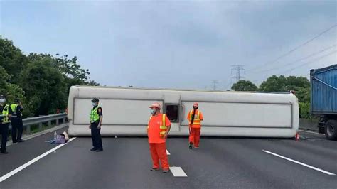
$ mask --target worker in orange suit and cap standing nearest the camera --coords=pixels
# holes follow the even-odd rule
[[[161,114],[161,105],[154,103],[150,106],[152,116],[147,126],[147,135],[149,137],[149,146],[153,166],[151,171],[159,171],[159,160],[163,173],[169,172],[169,160],[166,154],[166,138],[171,129],[171,121],[166,114]]]

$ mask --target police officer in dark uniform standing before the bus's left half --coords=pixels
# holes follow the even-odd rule
[[[90,151],[103,151],[101,137],[101,126],[103,119],[102,108],[98,106],[99,99],[94,98],[91,102],[93,108],[90,112],[89,129],[91,129],[92,146],[94,146],[94,148],[90,149]]]

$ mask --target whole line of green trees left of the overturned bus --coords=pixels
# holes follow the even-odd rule
[[[23,117],[64,112],[72,85],[99,85],[88,75],[76,56],[24,55],[13,41],[0,36],[0,94],[6,95],[7,103],[21,99]]]

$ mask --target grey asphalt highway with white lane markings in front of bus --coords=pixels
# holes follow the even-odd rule
[[[0,188],[336,188],[337,141],[301,131],[301,140],[169,138],[171,172],[149,171],[146,138],[90,138],[58,146],[45,134],[0,155]],[[57,148],[54,150],[54,148]],[[26,163],[26,165],[25,165]],[[28,163],[28,164],[27,164]],[[177,174],[186,176],[175,176]]]

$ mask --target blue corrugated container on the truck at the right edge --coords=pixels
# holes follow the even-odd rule
[[[311,114],[337,114],[337,65],[310,71]]]

